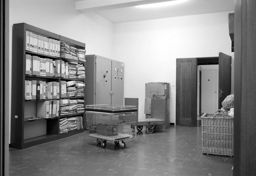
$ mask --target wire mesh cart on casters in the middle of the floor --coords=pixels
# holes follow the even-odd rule
[[[124,140],[133,138],[136,106],[86,105],[84,110],[89,136],[97,138],[101,147],[106,147],[109,140],[120,148],[125,148]]]

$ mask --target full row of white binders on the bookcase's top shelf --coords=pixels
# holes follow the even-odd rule
[[[60,41],[26,31],[26,50],[60,57]]]

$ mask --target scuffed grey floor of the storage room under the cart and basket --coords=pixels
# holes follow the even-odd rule
[[[202,154],[201,127],[170,126],[148,134],[145,126],[121,149],[106,148],[88,132],[17,150],[10,176],[232,176],[233,157]]]

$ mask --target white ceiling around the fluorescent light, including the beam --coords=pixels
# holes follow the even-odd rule
[[[76,10],[92,12],[112,23],[143,21],[186,15],[234,11],[234,0],[73,0]],[[172,1],[163,7],[139,8],[138,5]]]

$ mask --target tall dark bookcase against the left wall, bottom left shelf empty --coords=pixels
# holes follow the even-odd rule
[[[49,76],[48,74],[47,76],[42,76],[42,74],[41,76],[25,74],[26,73],[26,54],[31,56],[38,56],[40,58],[46,58],[47,60],[50,60],[50,61],[52,60],[58,60],[58,62],[62,61],[60,56],[50,56],[43,53],[37,53],[37,52],[25,50],[27,49],[26,31],[32,32],[33,34],[37,34],[43,37],[52,38],[54,40],[66,41],[66,42],[72,43],[72,46],[75,46],[76,48],[85,50],[85,44],[79,41],[75,41],[73,39],[66,38],[63,36],[60,38],[60,35],[58,34],[40,29],[35,26],[28,25],[26,23],[13,24],[12,69],[11,69],[12,70],[12,79],[11,79],[12,89],[11,89],[10,109],[11,109],[11,117],[17,116],[19,118],[11,118],[10,147],[17,148],[17,149],[24,149],[24,148],[36,146],[38,144],[43,144],[46,142],[58,140],[60,139],[59,138],[60,137],[59,135],[60,118],[75,117],[78,115],[84,117],[84,113],[77,113],[77,114],[65,115],[62,117],[58,116],[54,118],[36,118],[38,108],[39,108],[39,111],[42,110],[42,112],[44,112],[44,107],[48,105],[46,101],[51,102],[54,100],[55,101],[61,100],[61,98],[60,97],[56,98],[56,96],[54,96],[53,99],[42,99],[41,97],[41,99],[25,100],[24,98],[24,94],[26,93],[25,92],[26,88],[24,88],[25,81],[35,80],[35,81],[57,82],[58,84],[60,84],[60,80],[66,80],[66,81],[75,80],[75,81],[81,81],[81,83],[84,83],[85,79],[61,78],[60,76],[54,77],[52,75]],[[63,60],[68,62],[67,59],[63,59]],[[73,62],[74,60],[70,60],[70,61]],[[81,61],[74,61],[74,62],[82,63],[84,65],[84,62],[81,62]],[[61,66],[60,66],[60,71],[63,71]],[[58,88],[60,88],[60,93],[61,93],[61,84],[58,86]],[[84,100],[84,97],[72,97],[69,99]],[[40,103],[43,104],[44,107],[40,106]],[[49,106],[50,106],[50,103],[48,107]],[[58,115],[60,115],[60,113]],[[33,117],[35,119],[33,119]],[[29,121],[28,119],[31,119],[31,120]],[[69,132],[68,134],[61,135],[61,138],[72,136],[76,133],[81,133],[81,132],[83,132],[83,129],[78,131],[72,131],[72,132]],[[29,139],[26,139],[26,138],[29,138]]]

